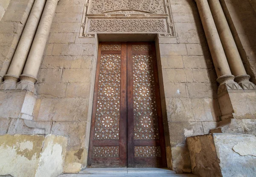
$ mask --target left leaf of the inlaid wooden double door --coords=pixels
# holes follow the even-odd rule
[[[99,44],[88,167],[127,166],[127,45]]]

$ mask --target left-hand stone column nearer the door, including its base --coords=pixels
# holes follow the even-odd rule
[[[29,51],[29,56],[26,60],[26,65],[22,75],[20,75],[20,82],[17,83],[16,89],[24,89],[35,92],[34,84],[37,81],[38,70],[41,65],[41,60],[44,54],[44,49],[47,43],[57,4],[58,0],[47,0],[45,4],[34,41]]]

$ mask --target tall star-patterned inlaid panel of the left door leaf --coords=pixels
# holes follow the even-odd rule
[[[94,139],[119,139],[121,55],[101,55]]]

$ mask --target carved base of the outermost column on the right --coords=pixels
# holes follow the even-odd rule
[[[256,91],[256,85],[249,81],[250,76],[245,75],[239,75],[235,77],[235,81],[244,89],[244,91]]]

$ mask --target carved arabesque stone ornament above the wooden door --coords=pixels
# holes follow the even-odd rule
[[[169,0],[85,0],[79,37],[110,33],[175,37]]]

